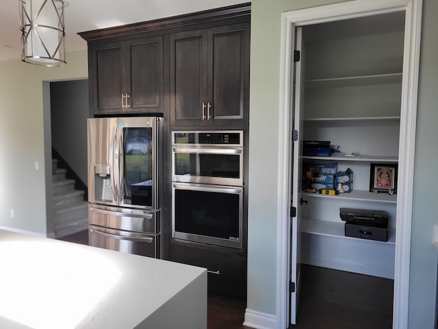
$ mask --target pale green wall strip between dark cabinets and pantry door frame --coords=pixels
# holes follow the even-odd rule
[[[342,1],[251,2],[248,303],[276,314],[281,13]]]

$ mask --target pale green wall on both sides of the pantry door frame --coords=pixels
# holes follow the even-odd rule
[[[342,1],[252,1],[247,307],[261,313],[276,314],[281,13],[335,2]],[[433,190],[438,186],[433,175],[438,149],[430,141],[438,141],[437,15],[437,1],[424,0],[409,328],[434,328],[436,313],[437,250],[432,229],[438,223]]]

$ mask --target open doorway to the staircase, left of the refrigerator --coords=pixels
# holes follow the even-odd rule
[[[44,92],[48,94],[44,97],[44,145],[46,161],[52,163],[47,173],[51,187],[47,223],[48,232],[60,239],[88,226],[88,80],[44,82]]]

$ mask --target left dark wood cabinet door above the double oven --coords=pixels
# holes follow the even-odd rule
[[[171,125],[207,124],[207,30],[170,35]]]

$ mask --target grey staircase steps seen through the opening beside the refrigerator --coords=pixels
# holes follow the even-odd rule
[[[88,202],[84,191],[75,190],[75,180],[66,179],[66,169],[52,159],[53,232],[55,239],[88,229]]]

